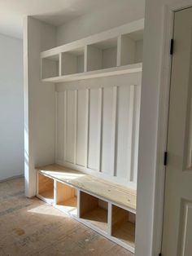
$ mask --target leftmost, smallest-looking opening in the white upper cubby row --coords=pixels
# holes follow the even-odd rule
[[[42,79],[59,77],[59,54],[41,59]]]

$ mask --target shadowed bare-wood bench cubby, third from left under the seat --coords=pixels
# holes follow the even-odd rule
[[[81,192],[80,195],[80,218],[98,227],[103,232],[107,232],[107,201],[98,199],[98,197],[91,196],[85,192]]]

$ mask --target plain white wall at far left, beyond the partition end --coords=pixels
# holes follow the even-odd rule
[[[23,42],[0,34],[0,180],[24,174]]]

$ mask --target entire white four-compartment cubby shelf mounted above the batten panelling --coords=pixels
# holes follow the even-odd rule
[[[41,52],[41,81],[66,82],[142,72],[144,20]]]

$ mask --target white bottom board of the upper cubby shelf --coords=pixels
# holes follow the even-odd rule
[[[142,63],[138,64],[130,64],[115,68],[105,68],[95,71],[89,71],[84,73],[75,73],[60,77],[50,77],[44,78],[42,82],[70,82],[70,81],[77,81],[77,80],[84,80],[89,78],[97,78],[97,77],[110,77],[116,75],[122,75],[126,73],[138,73],[142,72]]]

